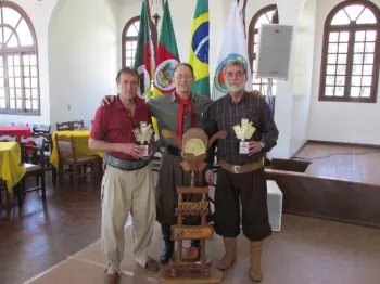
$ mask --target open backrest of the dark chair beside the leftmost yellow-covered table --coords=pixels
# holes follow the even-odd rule
[[[35,137],[22,137],[21,144],[21,155],[23,163],[30,163],[35,165],[43,165],[43,139]]]

